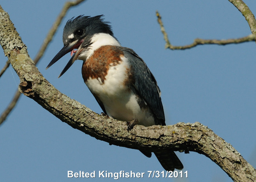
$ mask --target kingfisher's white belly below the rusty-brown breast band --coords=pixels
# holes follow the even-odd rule
[[[89,78],[86,85],[103,103],[109,117],[122,121],[137,119],[140,125],[155,125],[154,117],[148,109],[140,109],[137,96],[124,81],[127,78],[129,64],[125,61],[111,66],[104,84],[100,79]]]

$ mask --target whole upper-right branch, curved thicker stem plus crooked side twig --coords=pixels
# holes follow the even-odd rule
[[[197,45],[202,45],[202,44],[218,44],[218,45],[227,45],[227,44],[238,44],[238,43],[243,43],[243,42],[250,42],[250,41],[256,41],[256,20],[255,17],[252,13],[252,11],[249,9],[249,7],[242,1],[242,0],[228,0],[236,8],[243,14],[245,19],[247,20],[252,34],[248,35],[246,37],[242,37],[239,39],[227,39],[227,40],[205,40],[205,39],[195,39],[193,43],[185,46],[173,46],[171,42],[168,39],[168,35],[165,32],[164,29],[164,24],[162,22],[162,18],[159,14],[158,11],[156,11],[156,17],[157,17],[157,22],[160,25],[161,32],[164,35],[164,40],[165,40],[165,48],[169,48],[171,50],[184,50],[184,49],[190,49],[192,47],[196,47]]]

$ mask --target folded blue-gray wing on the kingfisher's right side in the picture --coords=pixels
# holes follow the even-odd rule
[[[155,114],[158,121],[156,124],[165,125],[164,109],[160,97],[161,91],[157,86],[155,77],[148,69],[146,63],[132,49],[123,47],[122,51],[132,65],[134,89]]]

